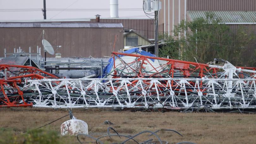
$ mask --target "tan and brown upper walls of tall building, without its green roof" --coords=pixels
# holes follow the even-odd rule
[[[173,21],[173,1],[174,1],[174,25],[179,23],[179,0],[160,0],[162,9],[159,13],[159,32],[163,31],[166,26],[166,32],[170,27],[170,35],[172,35]],[[166,20],[164,24],[164,1]],[[168,3],[169,2],[169,3]],[[168,5],[170,24],[168,25]],[[208,11],[256,11],[256,0],[186,0],[186,10],[208,10]],[[185,0],[180,0],[180,20],[185,19]],[[188,18],[188,16],[187,16]]]

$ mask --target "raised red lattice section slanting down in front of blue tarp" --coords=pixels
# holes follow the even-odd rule
[[[172,78],[174,78],[174,73],[180,72],[184,78],[191,77],[191,75],[194,73],[195,73],[194,76],[203,78],[205,76],[205,74],[208,75],[208,73],[210,71],[213,74],[215,74],[217,72],[217,68],[210,68],[208,64],[204,64],[204,63],[195,63],[195,62],[181,61],[181,60],[168,59],[168,58],[162,58],[162,57],[150,57],[150,56],[137,55],[137,54],[127,54],[127,53],[121,53],[121,52],[112,52],[112,54],[116,56],[116,57],[113,57],[114,59],[115,58],[120,59],[120,57],[118,55],[137,57],[131,63],[124,64],[124,62],[122,60],[120,60],[122,62],[122,64],[125,65],[125,67],[129,67],[129,69],[132,69],[130,65],[134,65],[135,63],[136,64],[140,63],[139,69],[136,69],[136,70],[132,69],[132,72],[137,73],[137,75],[133,76],[133,77],[147,76],[147,77],[162,78],[163,73],[168,73],[168,75],[171,75]],[[159,67],[154,67],[152,65],[151,61],[149,61],[149,59],[162,60],[162,61],[166,61],[166,63]],[[145,69],[144,64],[149,64],[153,68],[150,71],[155,71],[155,73],[153,73],[153,74],[143,73],[142,69]],[[120,66],[120,64],[117,65],[114,60],[114,72],[115,73],[113,74],[114,75],[113,78],[118,78],[118,76],[116,76],[116,69],[118,66]],[[169,67],[169,69],[164,69],[163,67]],[[172,82],[172,84],[173,84],[173,82]]]

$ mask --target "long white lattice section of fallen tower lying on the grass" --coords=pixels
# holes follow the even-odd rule
[[[255,79],[48,79],[28,80],[27,85],[34,94],[26,98],[35,107],[256,108]]]

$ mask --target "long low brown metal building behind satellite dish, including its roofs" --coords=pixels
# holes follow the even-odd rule
[[[150,19],[106,18],[96,19],[63,19],[40,21],[1,21],[0,22],[0,57],[3,49],[13,52],[14,48],[36,52],[36,46],[42,48],[42,31],[55,53],[62,57],[95,57],[111,56],[112,51],[124,48],[124,29],[133,29],[147,39],[154,38],[154,25]],[[115,43],[115,45],[114,45]],[[47,55],[47,57],[55,57]]]

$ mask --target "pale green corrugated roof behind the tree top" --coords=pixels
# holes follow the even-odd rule
[[[187,11],[188,16],[193,21],[196,18],[206,19],[207,11]],[[210,11],[208,11],[210,12]],[[256,22],[256,11],[212,11],[222,22]]]

